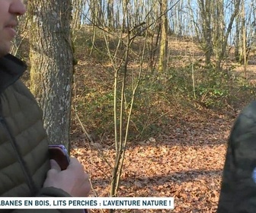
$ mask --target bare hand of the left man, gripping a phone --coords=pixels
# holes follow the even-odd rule
[[[61,170],[56,161],[50,160],[51,169],[47,173],[43,187],[62,189],[73,197],[86,197],[91,189],[88,174],[75,157],[70,158],[69,167]]]

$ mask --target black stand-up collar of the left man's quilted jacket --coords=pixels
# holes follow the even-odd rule
[[[8,54],[0,58],[0,93],[14,84],[27,69],[20,59]]]

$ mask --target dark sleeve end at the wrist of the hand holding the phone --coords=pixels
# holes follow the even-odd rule
[[[37,197],[70,197],[69,193],[62,189],[46,187],[40,189]],[[87,213],[84,209],[15,209],[11,213]]]

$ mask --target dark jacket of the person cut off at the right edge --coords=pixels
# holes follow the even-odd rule
[[[229,136],[217,213],[256,212],[256,101],[242,110]]]

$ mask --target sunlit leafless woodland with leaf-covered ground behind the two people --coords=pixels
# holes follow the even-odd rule
[[[255,3],[25,2],[12,53],[27,62],[50,141],[90,173],[91,196],[216,211],[229,132],[256,91]]]

